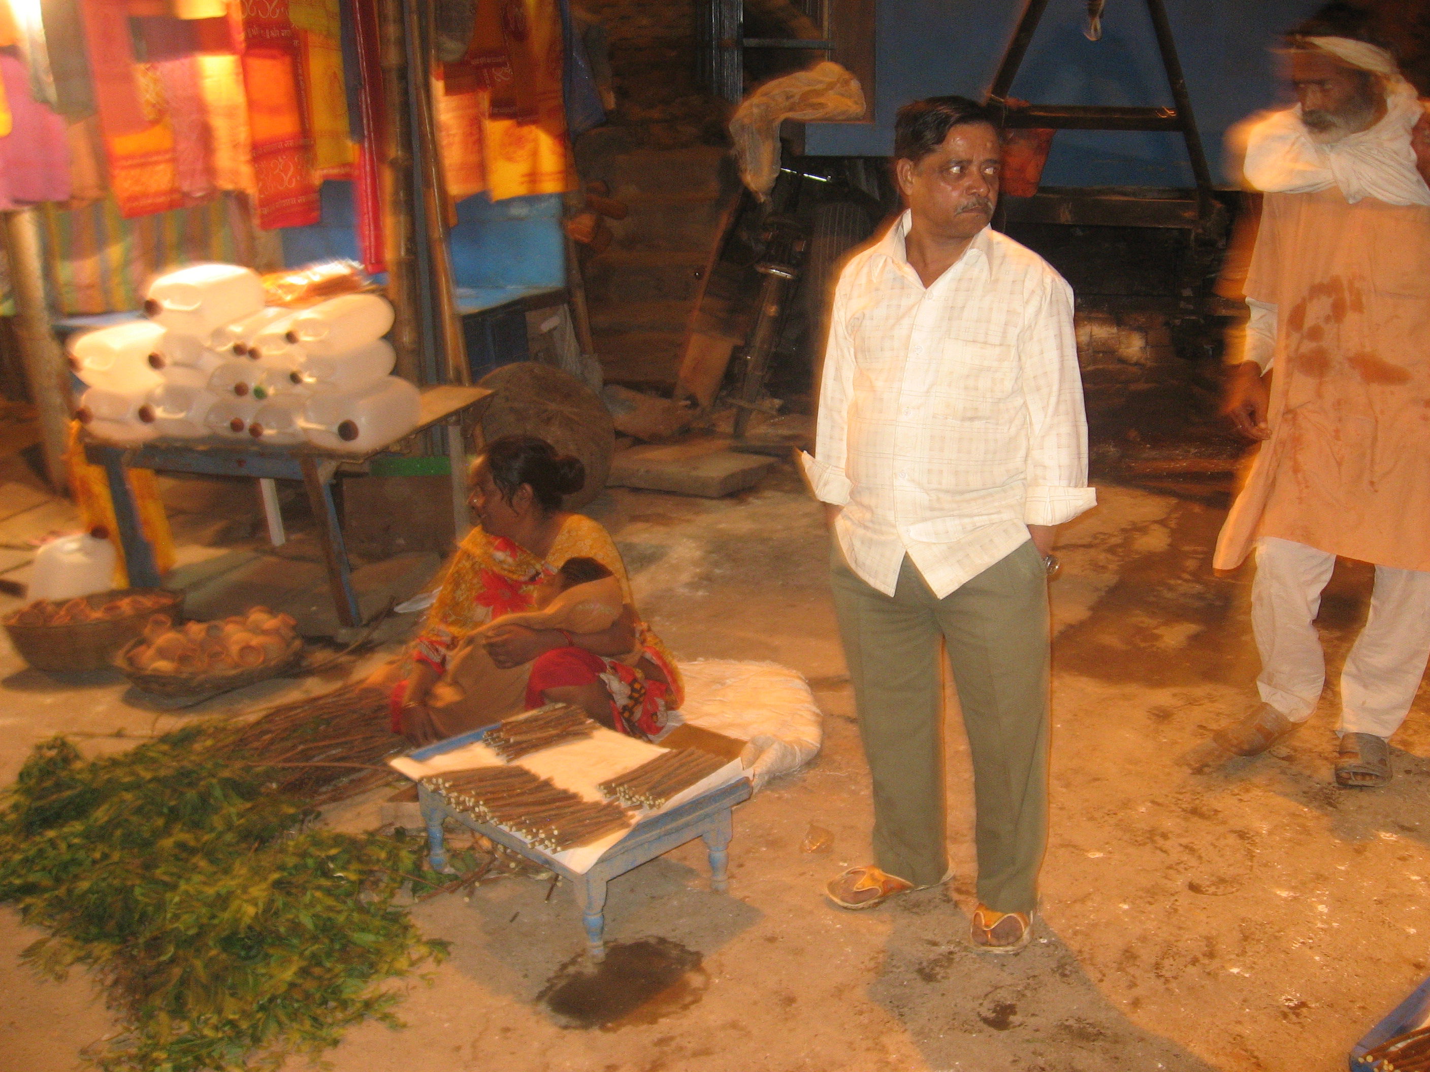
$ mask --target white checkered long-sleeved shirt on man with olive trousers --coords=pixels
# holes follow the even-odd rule
[[[1097,493],[1068,284],[985,227],[925,289],[908,222],[839,274],[804,465],[855,573],[894,595],[908,555],[942,599]]]

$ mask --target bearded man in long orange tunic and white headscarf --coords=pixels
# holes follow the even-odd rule
[[[1193,753],[1201,769],[1264,752],[1316,709],[1313,620],[1337,555],[1376,565],[1341,672],[1338,785],[1390,780],[1386,742],[1430,653],[1430,189],[1420,104],[1364,21],[1336,4],[1293,30],[1300,103],[1250,129],[1246,176],[1266,200],[1228,413],[1264,442],[1214,565],[1256,547],[1261,703]]]

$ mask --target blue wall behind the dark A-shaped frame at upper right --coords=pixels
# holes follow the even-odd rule
[[[1165,0],[1187,91],[1213,179],[1227,127],[1276,104],[1271,47],[1321,0]],[[981,100],[1022,11],[1021,0],[878,0],[875,116],[871,123],[811,123],[817,156],[888,156],[894,113],[919,97]],[[1108,0],[1103,40],[1083,36],[1085,0],[1051,0],[1012,86],[1038,104],[1170,106],[1147,7]],[[1042,182],[1050,186],[1190,186],[1180,134],[1060,130]]]

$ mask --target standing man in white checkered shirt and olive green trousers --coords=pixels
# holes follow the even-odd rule
[[[1087,510],[1072,292],[990,230],[991,111],[932,97],[898,113],[908,210],[839,276],[804,456],[834,532],[839,632],[874,780],[874,859],[841,908],[945,882],[940,642],[972,753],[971,942],[1027,945],[1047,830],[1048,597],[1055,526]]]

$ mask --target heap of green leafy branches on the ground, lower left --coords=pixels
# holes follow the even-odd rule
[[[222,733],[190,728],[84,760],[36,748],[0,806],[0,900],[49,935],[26,958],[106,985],[106,1072],[230,1072],[317,1053],[436,962],[395,903],[420,842],[315,829]],[[269,775],[275,773],[272,770]]]

